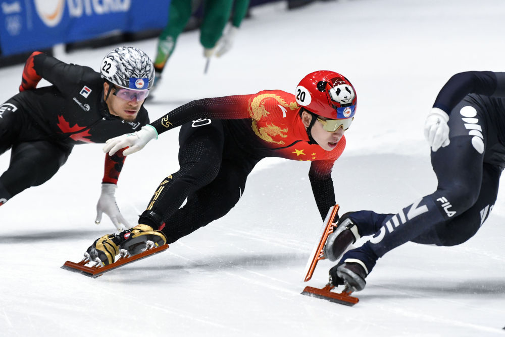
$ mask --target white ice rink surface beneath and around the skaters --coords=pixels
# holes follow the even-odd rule
[[[341,213],[395,213],[432,192],[423,123],[439,89],[457,72],[505,70],[503,0],[349,0],[292,11],[277,3],[251,14],[207,75],[198,33],[180,36],[146,103],[151,120],[197,98],[294,92],[312,71],[342,73],[359,107],[333,170]],[[133,45],[154,57],[155,39]],[[56,56],[97,70],[114,47]],[[0,101],[16,94],[21,73],[0,69]],[[116,194],[131,223],[178,169],[177,133],[126,160]],[[1,208],[0,336],[505,336],[503,191],[471,240],[389,252],[356,293],[360,303],[346,307],[299,294],[322,287],[332,266],[321,261],[302,282],[321,226],[307,162],[262,161],[227,216],[166,252],[97,279],[60,269],[115,231],[108,219],[94,224],[101,148],[76,146],[52,180]],[[0,169],[8,163],[6,153]]]

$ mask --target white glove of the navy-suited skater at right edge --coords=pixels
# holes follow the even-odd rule
[[[449,115],[442,109],[432,108],[424,123],[424,137],[436,152],[440,147],[449,145]]]

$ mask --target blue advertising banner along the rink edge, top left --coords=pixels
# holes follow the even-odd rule
[[[161,29],[170,0],[0,0],[0,48],[8,56],[112,32]]]

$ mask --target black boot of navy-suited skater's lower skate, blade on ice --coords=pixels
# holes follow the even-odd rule
[[[361,291],[367,282],[365,278],[372,271],[379,257],[368,246],[347,251],[340,262],[330,269],[330,283],[334,286],[345,285],[350,291]]]

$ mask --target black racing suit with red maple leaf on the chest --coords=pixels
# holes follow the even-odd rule
[[[40,78],[52,85],[34,89]],[[0,105],[0,154],[12,148],[9,168],[0,176],[0,205],[51,178],[74,145],[105,143],[149,122],[143,106],[134,122],[111,115],[99,73],[43,53],[27,60],[23,85],[24,91]],[[116,183],[123,162],[120,154],[106,155],[103,182]]]

